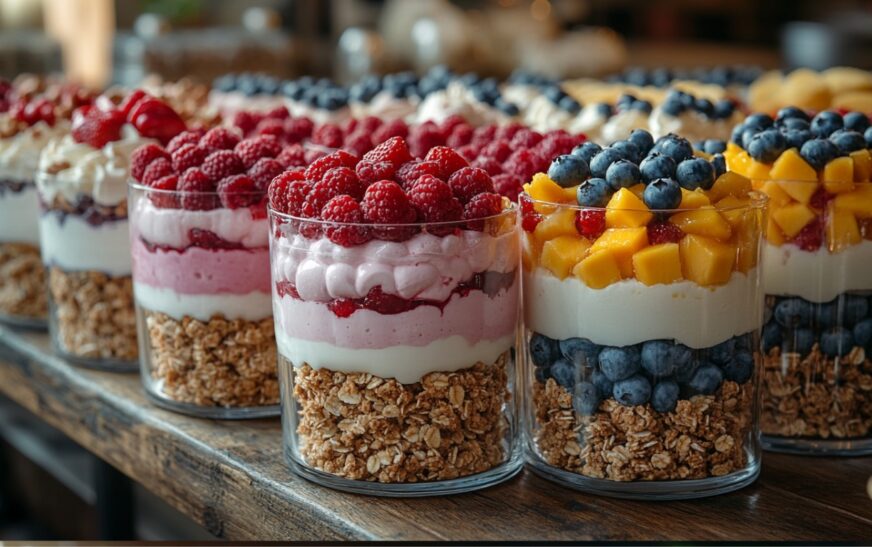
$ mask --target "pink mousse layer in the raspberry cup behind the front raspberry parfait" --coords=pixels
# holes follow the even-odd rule
[[[150,251],[134,238],[133,279],[179,294],[270,292],[269,249]]]

